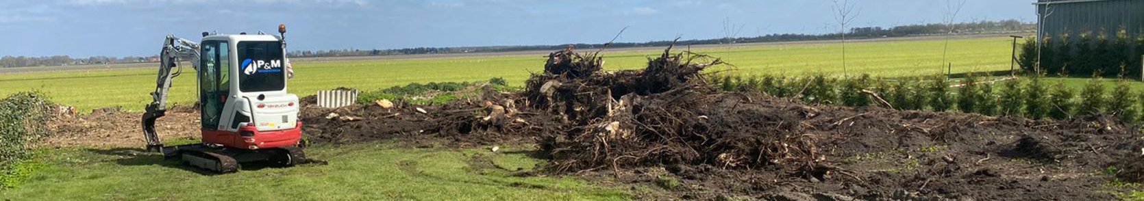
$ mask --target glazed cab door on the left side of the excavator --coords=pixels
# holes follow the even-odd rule
[[[202,128],[219,129],[223,106],[230,96],[230,46],[227,41],[204,41],[200,46],[199,103]]]

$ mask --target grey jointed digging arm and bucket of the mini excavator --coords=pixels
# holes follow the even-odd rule
[[[183,72],[180,61],[190,62],[191,66],[198,70],[199,43],[167,35],[162,43],[162,51],[159,53],[159,74],[156,79],[154,91],[151,93],[152,100],[143,113],[143,136],[146,138],[148,151],[164,152],[162,140],[154,131],[154,121],[166,115],[170,81]]]

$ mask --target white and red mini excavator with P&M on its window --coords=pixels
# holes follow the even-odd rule
[[[170,160],[215,172],[238,171],[244,162],[289,167],[307,162],[299,98],[286,93],[286,25],[278,35],[213,34],[198,43],[167,35],[159,54],[153,102],[143,113],[146,148]],[[154,122],[167,111],[175,77],[190,63],[198,77],[202,143],[164,146]]]

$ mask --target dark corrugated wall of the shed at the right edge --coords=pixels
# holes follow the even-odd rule
[[[1040,22],[1044,37],[1068,33],[1077,39],[1082,32],[1096,37],[1103,30],[1111,38],[1120,27],[1133,37],[1144,32],[1144,0],[1063,1],[1048,6],[1052,14]],[[1036,11],[1044,15],[1046,5],[1038,5]]]

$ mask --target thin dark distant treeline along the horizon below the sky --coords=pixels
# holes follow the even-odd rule
[[[872,39],[872,38],[889,38],[889,37],[912,37],[912,35],[935,35],[950,33],[952,27],[952,33],[955,34],[976,34],[976,33],[1006,33],[1006,32],[1026,32],[1034,31],[1036,25],[1022,23],[1015,19],[1008,21],[982,21],[972,23],[959,23],[946,25],[946,24],[919,24],[919,25],[903,25],[893,27],[853,27],[847,33],[847,39]],[[749,43],[749,42],[782,42],[782,41],[809,41],[809,40],[836,40],[841,39],[840,33],[828,33],[828,34],[799,34],[799,33],[782,33],[782,34],[766,34],[758,37],[744,37],[744,38],[722,38],[722,39],[704,39],[704,40],[684,40],[678,41],[676,45],[725,45],[725,43]],[[612,43],[611,48],[631,48],[631,47],[662,47],[672,45],[670,40],[664,41],[650,41],[650,42],[615,42]],[[524,50],[554,50],[563,49],[569,45],[555,45],[555,46],[486,46],[486,47],[452,47],[452,48],[402,48],[402,49],[341,49],[341,50],[301,50],[287,53],[289,57],[336,57],[336,56],[386,56],[386,55],[422,55],[422,54],[464,54],[464,53],[503,53],[503,51],[524,51]],[[579,49],[591,49],[601,48],[603,43],[574,43]],[[46,56],[46,57],[25,57],[25,56],[5,56],[0,57],[0,67],[19,67],[19,66],[58,66],[58,65],[84,65],[84,64],[117,64],[117,63],[145,63],[156,62],[158,56],[148,57],[106,57],[106,56],[95,56],[88,58],[71,58],[69,56]]]

